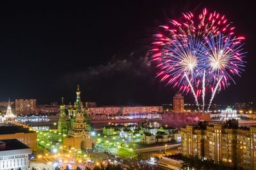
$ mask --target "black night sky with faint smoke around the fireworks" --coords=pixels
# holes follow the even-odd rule
[[[256,102],[253,1],[17,2],[0,3],[0,101],[73,102],[79,83],[82,101],[98,105],[170,103],[176,89],[148,65],[152,34],[168,18],[206,7],[234,22],[248,52],[246,71],[214,103]]]

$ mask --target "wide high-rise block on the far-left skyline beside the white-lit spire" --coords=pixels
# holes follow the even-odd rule
[[[16,115],[29,115],[36,112],[36,99],[16,99]]]

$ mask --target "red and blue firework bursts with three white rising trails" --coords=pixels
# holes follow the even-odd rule
[[[160,69],[157,77],[179,92],[191,92],[198,110],[199,97],[204,111],[205,92],[210,91],[209,110],[216,92],[235,83],[234,76],[244,71],[244,37],[237,37],[234,29],[225,15],[206,9],[198,16],[182,13],[179,22],[159,26],[150,50]]]

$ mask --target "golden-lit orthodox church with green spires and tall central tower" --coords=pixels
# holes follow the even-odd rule
[[[90,118],[88,116],[88,108],[83,108],[80,97],[80,88],[77,85],[76,101],[74,106],[69,104],[68,111],[65,111],[65,104],[62,99],[60,106],[60,117],[58,121],[58,131],[67,134],[63,138],[63,146],[67,148],[93,148],[95,138],[91,134]]]

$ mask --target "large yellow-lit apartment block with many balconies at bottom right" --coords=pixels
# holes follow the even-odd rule
[[[237,120],[180,129],[182,155],[224,162],[238,169],[256,168],[256,127],[238,127]]]

